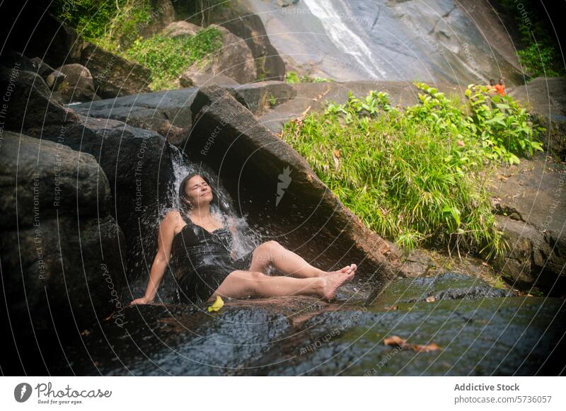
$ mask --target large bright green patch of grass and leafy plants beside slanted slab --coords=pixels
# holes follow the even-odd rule
[[[420,104],[405,110],[387,93],[350,93],[289,122],[282,137],[366,226],[401,247],[437,241],[501,256],[485,182],[490,165],[541,148],[526,112],[481,86],[468,86],[466,104],[417,87]]]

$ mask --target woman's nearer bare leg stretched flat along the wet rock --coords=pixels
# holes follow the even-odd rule
[[[337,288],[353,277],[352,272],[314,278],[270,277],[262,272],[236,270],[224,279],[208,301],[214,301],[216,296],[236,299],[257,295],[318,295],[324,299],[333,299]]]

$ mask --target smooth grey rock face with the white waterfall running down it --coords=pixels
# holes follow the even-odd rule
[[[502,73],[509,83],[522,80],[513,45],[492,48],[483,34],[509,39],[505,28],[485,23],[481,13],[470,16],[472,6],[458,1],[430,1],[426,8],[410,0],[305,0],[283,8],[275,1],[243,3],[262,19],[287,70],[301,75],[468,84]],[[487,2],[474,6],[491,9]]]

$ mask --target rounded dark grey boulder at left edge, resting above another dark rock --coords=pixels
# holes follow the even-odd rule
[[[4,138],[0,226],[33,226],[38,210],[42,219],[110,214],[110,186],[93,156],[79,156],[62,144],[64,139],[40,144],[12,132],[4,132]]]

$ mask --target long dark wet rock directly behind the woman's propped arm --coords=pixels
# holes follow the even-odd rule
[[[14,90],[6,110],[7,130],[22,130],[96,158],[110,182],[110,211],[125,233],[127,272],[130,277],[144,276],[144,261],[155,256],[159,213],[171,198],[170,144],[156,132],[64,108],[50,99],[45,82],[30,71],[12,74],[4,69],[0,74],[0,84]]]

